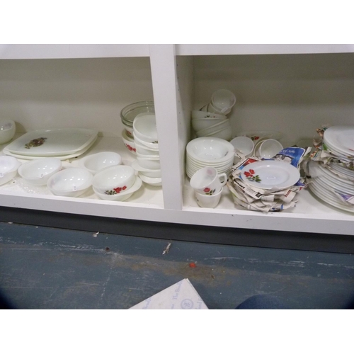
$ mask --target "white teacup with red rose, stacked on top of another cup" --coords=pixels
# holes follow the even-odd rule
[[[222,182],[220,180],[223,180]],[[226,173],[217,173],[214,167],[206,166],[195,172],[190,178],[190,186],[202,195],[215,195],[227,183]]]

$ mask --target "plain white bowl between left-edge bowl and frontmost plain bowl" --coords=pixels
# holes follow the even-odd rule
[[[62,161],[46,157],[28,161],[18,167],[18,174],[32,185],[45,185],[51,176],[62,169]]]

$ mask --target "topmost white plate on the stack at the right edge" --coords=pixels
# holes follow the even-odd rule
[[[338,152],[354,155],[354,127],[329,127],[324,132],[324,142],[330,144]]]

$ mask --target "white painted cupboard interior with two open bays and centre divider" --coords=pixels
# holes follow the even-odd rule
[[[17,178],[0,186],[0,206],[353,235],[353,214],[326,205],[306,189],[295,208],[278,213],[236,207],[226,188],[215,209],[200,208],[184,171],[185,146],[193,139],[190,110],[205,105],[217,89],[236,96],[229,114],[233,135],[276,130],[283,133],[283,146],[290,146],[312,139],[321,125],[354,124],[353,52],[353,45],[0,45],[0,117],[15,120],[18,134],[94,128],[99,137],[86,154],[115,151],[130,163],[135,156],[122,143],[120,110],[154,99],[163,181],[162,187],[144,185],[125,202],[108,202],[93,193],[64,198],[25,190]]]

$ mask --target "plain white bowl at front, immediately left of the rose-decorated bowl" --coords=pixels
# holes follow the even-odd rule
[[[54,195],[79,197],[91,187],[93,175],[86,169],[71,167],[55,173],[47,181],[47,187]]]

